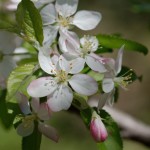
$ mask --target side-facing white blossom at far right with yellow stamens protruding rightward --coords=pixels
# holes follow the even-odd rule
[[[110,59],[107,64],[107,69],[109,72],[105,73],[104,79],[102,81],[102,88],[105,93],[110,93],[114,89],[115,84],[120,85],[122,88],[126,89],[126,86],[129,83],[128,81],[131,78],[130,75],[117,77],[122,67],[123,49],[124,46],[120,48],[116,61]]]

